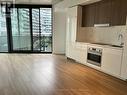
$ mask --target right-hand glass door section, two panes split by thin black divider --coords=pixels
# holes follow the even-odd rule
[[[32,9],[33,50],[52,52],[52,10]]]

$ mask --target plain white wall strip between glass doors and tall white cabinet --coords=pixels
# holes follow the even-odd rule
[[[53,9],[53,53],[65,54],[66,11],[56,6]]]

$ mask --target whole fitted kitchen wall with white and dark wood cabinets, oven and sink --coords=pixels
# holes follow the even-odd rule
[[[66,56],[126,80],[127,2],[126,0],[90,1],[80,3],[78,6],[73,5],[63,11],[67,14]],[[60,11],[57,9],[59,5],[56,6],[56,11]]]

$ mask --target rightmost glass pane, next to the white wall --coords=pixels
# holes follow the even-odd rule
[[[41,51],[52,52],[52,9],[40,8]]]

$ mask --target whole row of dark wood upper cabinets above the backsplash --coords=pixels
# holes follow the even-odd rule
[[[127,0],[102,0],[82,7],[82,26],[94,24],[126,25]]]

